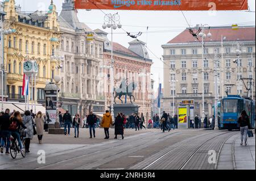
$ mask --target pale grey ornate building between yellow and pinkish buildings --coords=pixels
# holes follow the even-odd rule
[[[72,115],[81,116],[90,110],[105,111],[104,95],[98,91],[98,75],[102,71],[104,39],[86,24],[80,23],[73,1],[65,0],[59,15],[60,23],[60,104]]]

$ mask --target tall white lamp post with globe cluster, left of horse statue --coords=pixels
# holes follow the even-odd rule
[[[122,28],[122,24],[119,22],[120,16],[116,14],[106,14],[104,16],[104,24],[102,25],[103,29],[111,28],[111,61],[110,61],[110,81],[111,81],[111,116],[114,120],[114,60],[113,60],[113,30],[116,30],[117,28]],[[118,23],[117,23],[118,22]]]

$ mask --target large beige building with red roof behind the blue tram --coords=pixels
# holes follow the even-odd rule
[[[198,27],[195,27],[195,32],[196,30]],[[205,33],[208,33],[208,30]],[[188,29],[162,45],[163,108],[167,112],[170,110],[171,114],[177,114],[177,107],[183,106],[182,100],[193,100],[194,115],[201,116],[204,91],[205,115],[213,115],[214,49],[217,51],[218,99],[225,97],[226,92],[247,97],[246,87],[240,78],[253,78],[255,81],[255,27],[240,27],[238,30],[232,30],[231,27],[211,27],[210,33],[212,37],[206,37],[204,40],[204,50],[201,48],[201,38],[199,41],[195,39]],[[237,49],[241,51],[239,55],[236,53]],[[249,87],[247,81],[245,83]],[[249,96],[252,98],[254,95],[255,99],[254,82],[252,87],[253,92],[250,90]]]

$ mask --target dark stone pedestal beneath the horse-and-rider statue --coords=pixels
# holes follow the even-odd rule
[[[109,107],[111,111],[111,107]],[[122,112],[123,114],[129,116],[134,113],[139,112],[139,106],[137,104],[114,104],[114,116],[117,116],[117,113]]]

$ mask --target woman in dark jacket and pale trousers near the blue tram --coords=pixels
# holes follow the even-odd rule
[[[250,119],[247,115],[246,111],[243,110],[241,113],[241,116],[238,118],[238,125],[240,127],[240,133],[241,133],[241,144],[243,145],[243,140],[245,140],[245,146],[247,145],[247,134],[248,130],[251,129],[250,125]]]

